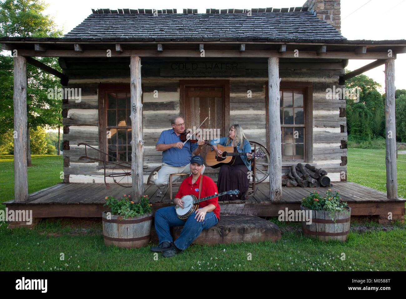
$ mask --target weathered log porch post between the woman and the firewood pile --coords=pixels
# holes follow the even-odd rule
[[[269,198],[271,201],[282,200],[282,152],[281,120],[279,117],[279,58],[268,58],[268,116],[269,140],[274,140],[270,147]]]

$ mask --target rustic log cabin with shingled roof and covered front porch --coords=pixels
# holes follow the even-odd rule
[[[256,162],[252,180],[261,184],[253,185],[253,196],[221,203],[224,213],[277,216],[286,206],[298,208],[312,189],[282,188],[281,176],[302,163],[328,172],[353,215],[384,220],[391,211],[404,220],[395,138],[386,143],[386,194],[347,181],[346,95],[331,96],[331,90],[385,64],[386,129],[395,135],[394,61],[406,52],[406,41],[348,40],[340,24],[339,0],[307,0],[303,7],[205,13],[92,9],[62,38],[1,37],[3,49],[18,53],[15,130],[23,137],[15,140],[15,199],[6,206],[30,204],[36,218],[100,217],[107,192],[149,194],[154,210],[170,204],[168,194],[158,199],[148,183],[162,163],[158,137],[180,114],[190,129],[207,117],[201,128],[209,137],[226,136],[238,123],[253,149],[268,153]],[[63,71],[32,57],[58,57]],[[348,59],[376,61],[345,74]],[[62,105],[63,182],[33,194],[24,164],[27,62],[60,77],[65,91],[80,91]],[[125,173],[130,188],[114,184],[117,172]]]

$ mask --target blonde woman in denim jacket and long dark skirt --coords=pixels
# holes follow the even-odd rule
[[[222,165],[218,174],[218,192],[228,190],[240,190],[237,196],[223,195],[218,201],[229,201],[235,199],[245,199],[248,192],[249,171],[251,171],[251,145],[244,135],[239,124],[233,124],[229,128],[229,136],[210,140],[212,149],[219,155],[222,151],[217,148],[217,144],[222,146],[233,146],[239,153],[247,153],[244,156],[236,156],[233,165]]]

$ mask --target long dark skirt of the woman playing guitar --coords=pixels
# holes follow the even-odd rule
[[[248,192],[248,168],[245,166],[240,156],[235,158],[233,165],[222,165],[218,173],[217,189],[218,192],[229,190],[240,190],[238,195],[230,196],[228,194],[218,197],[218,201],[233,201],[235,199],[245,199]]]

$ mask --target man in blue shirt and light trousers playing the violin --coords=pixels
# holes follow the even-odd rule
[[[155,149],[162,151],[162,167],[155,178],[155,186],[159,188],[157,196],[162,197],[168,190],[169,175],[174,173],[190,173],[192,155],[199,155],[203,139],[197,143],[181,142],[181,134],[185,132],[185,120],[180,115],[171,119],[172,129],[165,130],[159,136]],[[204,165],[203,171],[204,172]]]

